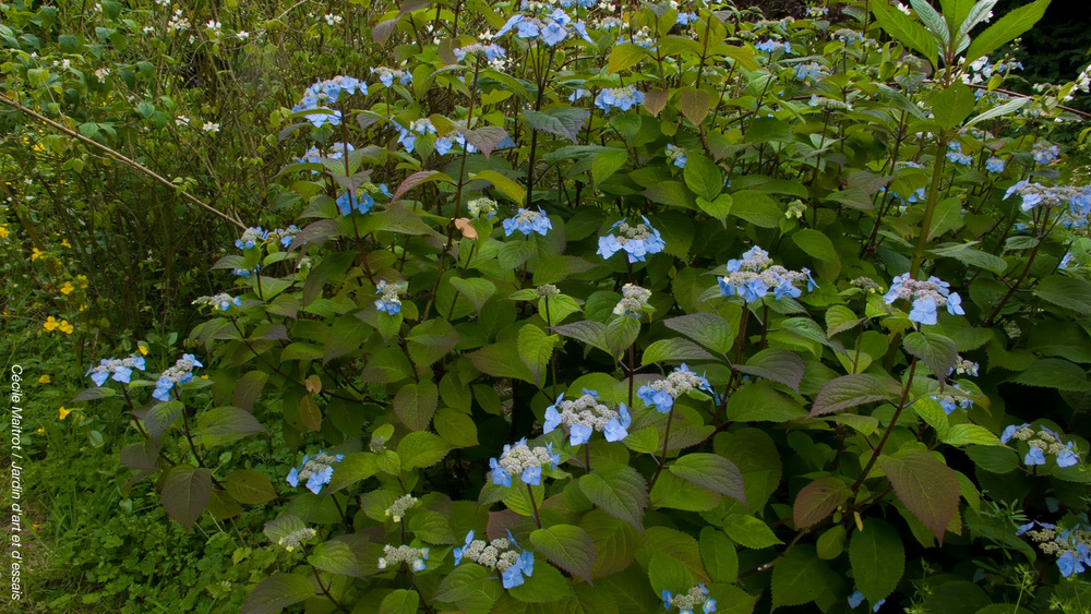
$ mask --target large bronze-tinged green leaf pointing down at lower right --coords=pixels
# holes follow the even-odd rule
[[[958,475],[923,449],[904,449],[879,456],[879,469],[913,516],[944,543],[944,531],[958,511]]]

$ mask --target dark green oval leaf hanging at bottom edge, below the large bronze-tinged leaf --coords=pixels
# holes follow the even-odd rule
[[[856,589],[874,605],[898,587],[906,571],[906,546],[888,522],[867,518],[849,542],[849,562]]]

